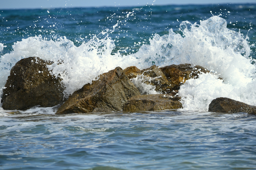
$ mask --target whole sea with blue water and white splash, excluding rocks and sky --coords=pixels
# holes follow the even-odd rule
[[[256,117],[208,112],[217,97],[256,106],[255,23],[256,4],[0,9],[1,97],[28,57],[62,61],[49,69],[66,96],[117,66],[212,73],[181,86],[179,110],[0,108],[0,169],[256,169]]]

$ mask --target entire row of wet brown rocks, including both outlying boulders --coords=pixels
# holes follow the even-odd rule
[[[182,108],[176,95],[180,86],[190,78],[209,72],[190,64],[151,66],[140,70],[135,66],[122,70],[116,67],[85,84],[64,102],[64,86],[59,77],[52,75],[47,65],[52,64],[36,57],[21,59],[11,69],[3,89],[2,107],[6,110],[26,110],[33,106],[52,107],[62,104],[56,114],[153,111]],[[144,94],[132,83],[139,76],[142,83],[152,85],[160,94]],[[64,102],[64,103],[63,103]],[[229,98],[214,99],[209,111],[256,114],[256,106],[249,106]]]

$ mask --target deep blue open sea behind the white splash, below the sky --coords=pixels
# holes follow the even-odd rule
[[[127,12],[134,15],[126,18]],[[179,32],[182,21],[199,24],[200,20],[220,14],[227,20],[228,28],[235,31],[240,29],[245,36],[252,28],[248,32],[250,44],[256,42],[255,4],[17,9],[1,10],[0,14],[0,40],[7,45],[2,54],[10,52],[14,42],[39,34],[48,39],[66,36],[80,45],[83,41],[89,41],[92,35],[111,29],[117,20],[120,28],[110,35],[112,39],[118,40],[117,49],[129,47],[136,52],[139,46],[134,46],[134,42],[148,43],[152,34],[162,36],[168,34],[170,28]],[[255,56],[255,47],[252,47],[252,52]]]

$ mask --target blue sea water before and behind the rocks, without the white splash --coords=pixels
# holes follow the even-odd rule
[[[38,35],[53,41],[66,36],[80,46],[94,35],[104,38],[100,33],[118,20],[120,27],[109,33],[112,54],[128,47],[120,51],[125,57],[155,33],[172,28],[182,34],[182,21],[199,24],[219,14],[229,29],[256,42],[256,4],[19,9],[0,10],[0,43],[6,46],[0,54]],[[247,113],[55,111],[0,109],[0,169],[256,169],[256,118]]]

